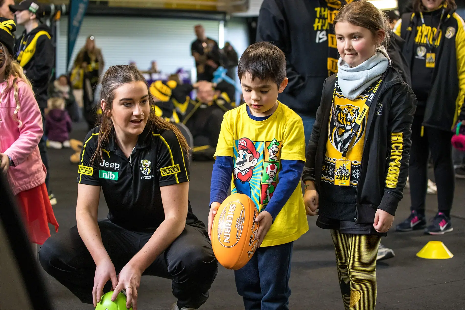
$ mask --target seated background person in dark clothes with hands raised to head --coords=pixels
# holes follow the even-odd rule
[[[200,81],[193,86],[198,89],[197,98],[187,102],[181,121],[191,131],[194,146],[215,148],[223,115],[232,109],[231,102],[229,98],[216,96],[211,82]]]

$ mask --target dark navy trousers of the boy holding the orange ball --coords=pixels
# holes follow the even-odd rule
[[[244,267],[234,271],[246,310],[289,309],[292,245],[259,247]]]

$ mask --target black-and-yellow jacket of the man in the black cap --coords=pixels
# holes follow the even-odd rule
[[[41,24],[30,33],[25,30],[17,42],[18,62],[31,81],[41,109],[47,107],[48,83],[55,62],[55,48],[50,33],[50,28]]]

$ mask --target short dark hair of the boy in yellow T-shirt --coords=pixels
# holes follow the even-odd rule
[[[244,51],[237,66],[239,80],[246,73],[250,73],[252,80],[271,79],[279,88],[286,79],[286,56],[279,47],[269,42],[254,43]]]

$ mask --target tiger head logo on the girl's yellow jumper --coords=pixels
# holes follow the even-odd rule
[[[329,130],[331,133],[329,139],[332,146],[342,153],[344,149],[348,149],[352,129],[353,126],[355,126],[355,120],[359,117],[360,111],[358,106],[344,105],[336,106],[336,114],[339,128],[335,126],[333,118],[331,117],[329,121]],[[353,146],[355,146],[362,137],[361,133],[364,131],[364,127],[365,120],[362,121],[355,134]],[[339,135],[336,133],[336,130],[339,131]]]

